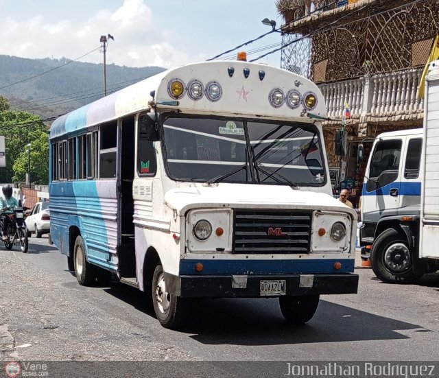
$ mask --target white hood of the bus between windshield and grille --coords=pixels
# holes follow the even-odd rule
[[[326,193],[300,191],[288,186],[227,184],[180,187],[167,191],[165,204],[184,215],[190,209],[230,207],[241,209],[355,210]]]

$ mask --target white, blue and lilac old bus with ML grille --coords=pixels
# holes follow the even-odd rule
[[[138,287],[164,327],[189,299],[279,298],[307,322],[356,293],[356,213],[331,196],[313,82],[265,64],[169,69],[54,121],[51,239],[80,285]]]

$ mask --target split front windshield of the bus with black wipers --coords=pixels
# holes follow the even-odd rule
[[[308,123],[171,115],[163,141],[174,180],[324,185],[320,132]]]

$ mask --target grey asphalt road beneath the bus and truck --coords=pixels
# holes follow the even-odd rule
[[[438,359],[439,274],[386,285],[358,268],[359,294],[322,296],[298,327],[284,322],[276,299],[199,300],[177,332],[145,310],[141,292],[82,287],[47,239],[30,240],[27,254],[0,248],[0,359]]]

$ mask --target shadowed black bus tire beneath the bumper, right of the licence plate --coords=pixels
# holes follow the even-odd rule
[[[316,314],[320,295],[280,296],[279,307],[287,322],[302,324],[311,320]]]

